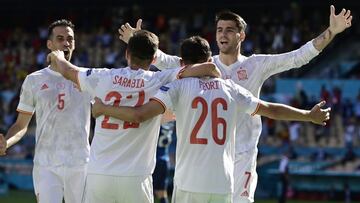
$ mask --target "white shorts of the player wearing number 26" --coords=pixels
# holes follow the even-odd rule
[[[171,203],[232,203],[231,194],[188,192],[174,186]]]

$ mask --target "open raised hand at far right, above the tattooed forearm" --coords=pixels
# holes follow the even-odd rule
[[[352,15],[350,10],[342,9],[338,15],[335,15],[335,7],[330,6],[330,25],[329,30],[333,34],[338,34],[351,26]]]

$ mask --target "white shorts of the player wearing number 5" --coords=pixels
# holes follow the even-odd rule
[[[33,182],[37,202],[81,202],[85,188],[87,165],[38,166],[33,168]]]

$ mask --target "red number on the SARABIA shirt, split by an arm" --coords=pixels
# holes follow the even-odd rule
[[[109,92],[105,97],[105,101],[110,101],[112,98],[115,98],[113,106],[120,106],[120,101],[121,101],[122,95],[116,91]],[[125,98],[131,99],[132,95],[128,95]],[[141,91],[141,92],[139,92],[138,101],[135,104],[135,106],[143,105],[144,101],[145,101],[145,92]],[[110,116],[104,116],[104,120],[101,122],[101,128],[112,129],[112,130],[119,129],[119,124],[118,123],[109,123],[109,119],[110,119]],[[131,123],[131,122],[124,121],[123,129],[138,128],[139,126],[140,126],[139,123]]]

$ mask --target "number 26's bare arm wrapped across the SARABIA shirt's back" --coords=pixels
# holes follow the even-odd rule
[[[92,114],[95,118],[101,115],[107,115],[123,121],[135,123],[144,122],[164,112],[164,107],[155,100],[150,100],[148,103],[138,107],[114,107],[102,103],[99,98],[95,98],[95,103],[92,107]]]

